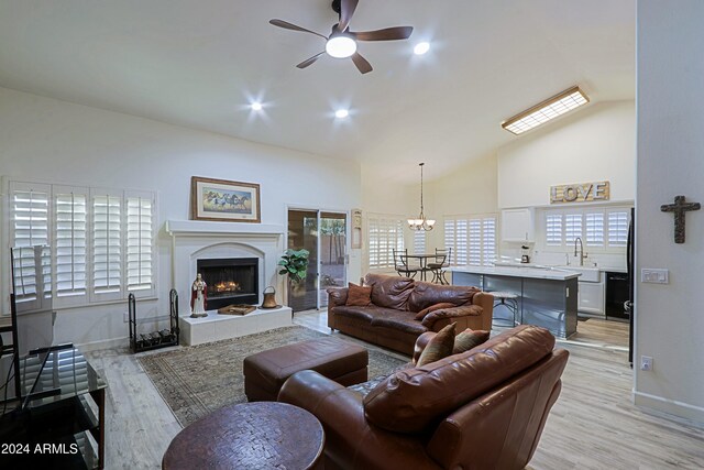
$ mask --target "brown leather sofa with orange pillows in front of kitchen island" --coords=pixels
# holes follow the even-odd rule
[[[372,305],[348,306],[348,288],[328,289],[328,327],[343,334],[413,354],[416,339],[426,331],[440,331],[451,323],[455,332],[466,328],[492,329],[494,297],[476,287],[448,286],[414,281],[409,277],[367,274],[364,285],[372,287]],[[453,304],[414,317],[439,303]]]

